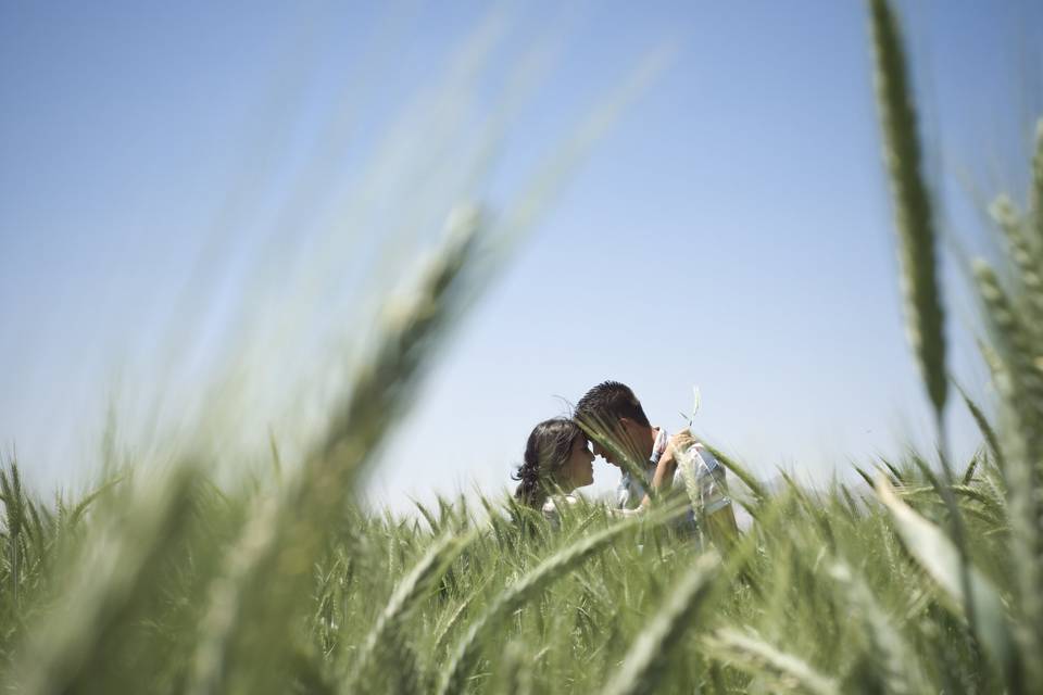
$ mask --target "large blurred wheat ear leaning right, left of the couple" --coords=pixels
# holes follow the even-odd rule
[[[480,226],[475,208],[451,215],[447,242],[430,260],[414,293],[386,308],[381,338],[348,384],[322,441],[280,491],[277,503],[265,504],[248,522],[225,577],[213,586],[191,692],[280,687],[279,659],[286,649],[273,642],[276,635],[291,634],[292,616],[309,595],[310,571],[328,535],[329,520],[353,494],[366,462],[407,407],[425,362],[454,318]],[[257,664],[231,674],[228,665],[237,649],[251,654]],[[233,675],[237,679],[229,683]]]

